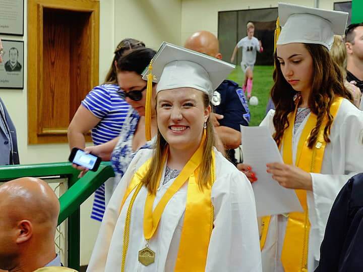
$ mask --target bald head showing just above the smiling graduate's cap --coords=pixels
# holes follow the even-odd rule
[[[185,45],[185,48],[204,53],[205,55],[222,59],[219,52],[219,42],[216,36],[208,31],[199,31],[190,36]]]

